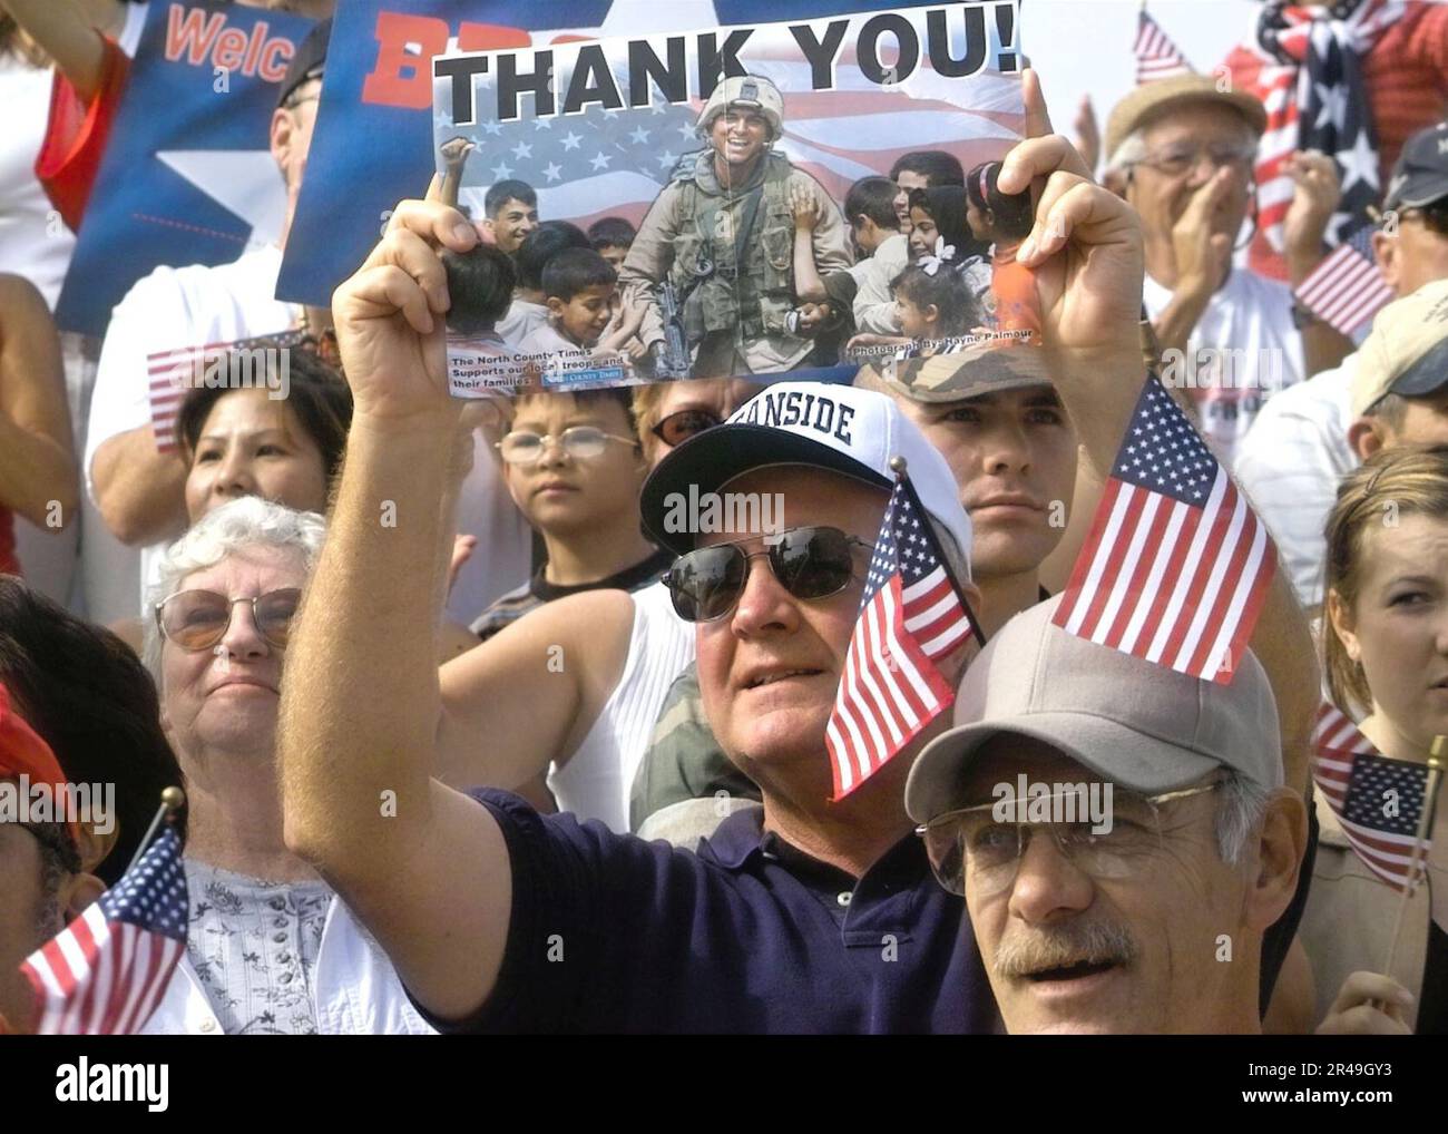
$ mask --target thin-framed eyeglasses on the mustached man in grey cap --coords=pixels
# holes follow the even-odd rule
[[[1112,794],[1111,830],[1105,833],[1093,831],[1085,817],[1079,823],[1002,823],[995,817],[1001,807],[996,801],[946,811],[917,827],[915,834],[925,840],[935,881],[961,896],[967,878],[977,899],[1008,891],[1038,830],[1048,834],[1061,856],[1083,873],[1098,881],[1119,881],[1150,869],[1161,849],[1161,812],[1166,805],[1219,786],[1222,781],[1213,781],[1147,797],[1116,791]],[[1064,794],[1050,799],[1064,799]]]

